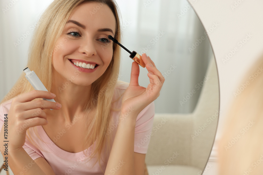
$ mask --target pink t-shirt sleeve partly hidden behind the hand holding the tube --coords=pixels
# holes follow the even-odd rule
[[[10,106],[11,106],[11,103],[7,103],[5,105],[3,105],[2,103],[0,105],[0,130],[2,129],[3,124],[4,124],[4,117],[5,117],[4,114],[8,114]],[[8,115],[7,115],[7,119],[9,119]],[[12,126],[8,125],[8,128],[10,127]],[[33,160],[37,159],[38,157],[44,157],[35,146],[33,146],[30,142],[28,142],[27,139],[26,139],[25,144],[23,145],[23,148]]]

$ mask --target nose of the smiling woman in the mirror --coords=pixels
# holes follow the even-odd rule
[[[83,39],[82,43],[79,46],[79,52],[82,54],[86,54],[86,56],[88,57],[97,55],[94,41],[92,39]]]

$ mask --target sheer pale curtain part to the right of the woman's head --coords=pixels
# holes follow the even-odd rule
[[[117,0],[117,3],[123,21],[122,44],[140,54],[146,51],[165,77],[160,96],[155,100],[155,112],[192,112],[202,89],[198,83],[204,80],[213,56],[194,10],[186,0]],[[202,36],[205,38],[202,43],[189,50]],[[129,59],[129,53],[122,50],[120,79],[126,82],[130,81],[132,60]],[[140,86],[149,84],[147,73],[146,68],[140,67]],[[196,93],[185,104],[180,103],[193,90]]]

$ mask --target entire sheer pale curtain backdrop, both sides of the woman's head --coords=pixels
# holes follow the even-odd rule
[[[167,75],[160,96],[155,100],[155,112],[192,112],[201,91],[201,87],[197,90],[195,85],[203,81],[212,56],[207,38],[191,53],[189,51],[189,47],[197,39],[206,37],[194,10],[189,8],[186,0],[116,1],[122,15],[121,43],[139,54],[146,52],[159,71]],[[52,0],[0,2],[1,99],[25,68],[34,25],[51,2]],[[184,14],[181,10],[185,11]],[[122,50],[121,63],[120,79],[130,82],[132,60],[125,50]],[[149,84],[147,72],[146,68],[140,67],[140,86],[147,87]],[[193,89],[196,93],[185,104],[180,104]]]

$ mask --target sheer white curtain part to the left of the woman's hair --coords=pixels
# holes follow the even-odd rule
[[[52,0],[0,1],[1,100],[26,68],[29,42],[37,19],[51,2]]]

